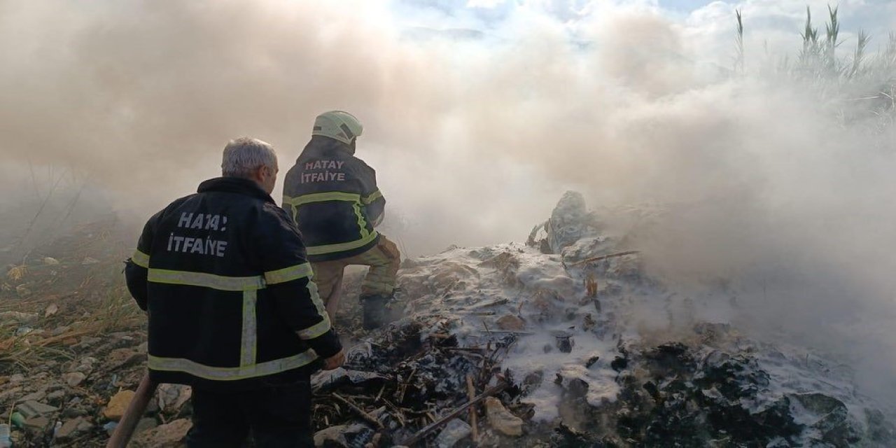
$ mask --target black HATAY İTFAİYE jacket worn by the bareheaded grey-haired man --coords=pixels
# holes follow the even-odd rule
[[[341,349],[298,230],[251,180],[219,177],[143,228],[125,267],[160,383],[245,390],[307,378]]]

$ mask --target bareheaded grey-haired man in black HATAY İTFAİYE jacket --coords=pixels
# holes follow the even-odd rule
[[[277,155],[229,142],[223,177],[171,202],[143,228],[125,268],[149,314],[149,370],[193,386],[188,446],[314,446],[314,361],[344,358],[296,225],[271,199]]]

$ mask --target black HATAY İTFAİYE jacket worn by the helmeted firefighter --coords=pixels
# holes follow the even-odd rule
[[[376,171],[348,145],[315,135],[283,181],[283,208],[296,220],[308,260],[339,260],[379,242],[374,226],[386,200]]]

